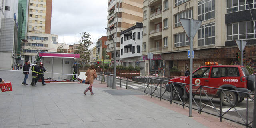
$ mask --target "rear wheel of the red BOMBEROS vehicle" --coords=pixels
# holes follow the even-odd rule
[[[225,106],[232,106],[230,101],[232,102],[232,104],[235,104],[237,101],[237,95],[235,92],[231,92],[231,91],[224,91],[226,96],[221,93],[221,100],[223,105]],[[229,100],[228,100],[229,99]]]

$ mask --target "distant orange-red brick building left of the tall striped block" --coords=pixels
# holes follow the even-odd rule
[[[100,64],[103,63],[103,49],[105,48],[105,51],[107,50],[107,42],[108,38],[107,36],[102,36],[97,40],[96,44],[96,62],[99,62]],[[104,60],[104,64],[110,64],[111,63],[111,53],[107,52],[106,59]]]

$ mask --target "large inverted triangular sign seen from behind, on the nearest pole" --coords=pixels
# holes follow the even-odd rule
[[[193,38],[196,35],[197,30],[202,24],[202,20],[192,20],[192,27],[191,27],[191,34],[190,34],[190,20],[192,19],[183,19],[180,18],[180,23],[182,24],[183,29],[186,32],[186,35],[188,36],[188,39],[190,39],[190,36]]]

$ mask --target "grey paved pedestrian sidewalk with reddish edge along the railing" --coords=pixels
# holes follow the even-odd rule
[[[24,86],[22,72],[0,71],[11,81],[12,92],[0,92],[0,128],[238,128],[208,114],[170,102],[160,101],[142,92],[119,88],[112,90],[95,80],[95,95],[84,96],[84,84],[47,84]],[[15,80],[14,80],[15,79]],[[30,74],[27,83],[32,80]]]

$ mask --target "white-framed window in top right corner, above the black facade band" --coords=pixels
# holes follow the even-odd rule
[[[256,8],[256,0],[227,0],[227,13]]]

